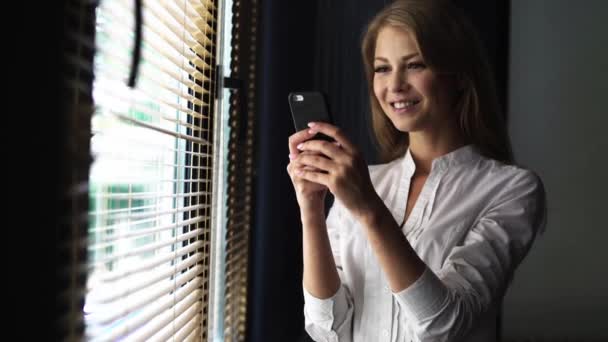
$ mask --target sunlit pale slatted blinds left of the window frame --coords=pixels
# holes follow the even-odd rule
[[[96,8],[86,338],[206,340],[211,252],[214,1]]]

